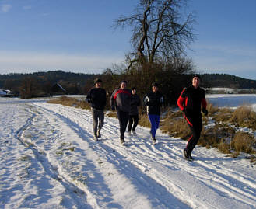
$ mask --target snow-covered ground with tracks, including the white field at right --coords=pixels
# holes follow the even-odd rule
[[[226,97],[229,96],[229,97]],[[256,96],[208,96],[218,106]],[[106,117],[94,142],[89,110],[0,98],[0,208],[256,208],[256,165],[138,127],[119,142]]]

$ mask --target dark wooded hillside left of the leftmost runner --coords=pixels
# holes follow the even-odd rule
[[[87,80],[94,76],[96,75],[65,71],[11,73],[0,75],[0,88],[12,90],[16,96],[21,96],[23,99],[64,93],[61,89],[58,89],[58,92],[52,92],[56,83],[61,85],[68,94],[83,94]]]

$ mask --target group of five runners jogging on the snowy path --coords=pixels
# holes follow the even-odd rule
[[[116,110],[120,127],[121,145],[125,145],[124,133],[128,125],[128,135],[137,135],[135,128],[139,121],[139,106],[141,99],[136,93],[136,88],[132,90],[127,88],[127,81],[121,81],[120,87],[115,89],[110,97],[110,106],[112,110]],[[188,123],[191,130],[191,137],[188,138],[186,148],[184,148],[184,158],[193,160],[191,156],[192,150],[198,143],[202,131],[202,112],[205,116],[208,114],[206,110],[205,90],[200,86],[200,76],[192,77],[192,84],[184,88],[181,95],[177,99],[177,105],[184,113],[184,119]],[[102,88],[102,80],[96,78],[92,89],[86,96],[86,101],[91,106],[93,115],[93,134],[94,141],[101,138],[100,130],[104,124],[104,107],[107,103],[106,91]],[[159,91],[159,83],[153,82],[152,89],[146,93],[142,99],[142,103],[146,106],[149,122],[151,124],[150,135],[153,144],[156,144],[156,130],[160,125],[160,109],[164,104],[163,94]],[[129,124],[128,124],[129,123]]]

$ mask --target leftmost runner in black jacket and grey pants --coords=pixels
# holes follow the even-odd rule
[[[86,101],[91,106],[91,111],[93,115],[93,132],[94,140],[98,141],[98,138],[101,137],[100,129],[104,124],[104,107],[106,106],[106,91],[100,86],[102,80],[96,78],[94,81],[95,87],[90,89],[86,96]]]

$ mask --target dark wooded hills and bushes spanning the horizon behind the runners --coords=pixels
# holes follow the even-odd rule
[[[151,89],[152,82],[159,82],[160,90],[167,98],[167,105],[176,103],[181,90],[191,83],[193,73],[191,61],[180,60],[167,64],[149,65],[146,69],[135,69],[127,73],[126,69],[107,68],[100,75],[71,73],[65,71],[47,71],[31,74],[0,75],[0,89],[16,92],[16,96],[28,99],[52,94],[86,94],[93,87],[93,80],[101,78],[108,95],[118,88],[121,80],[128,81],[128,87],[136,87],[140,96]],[[256,81],[227,74],[202,74],[203,87],[226,87],[233,89],[256,89]],[[61,89],[54,90],[55,84]]]

